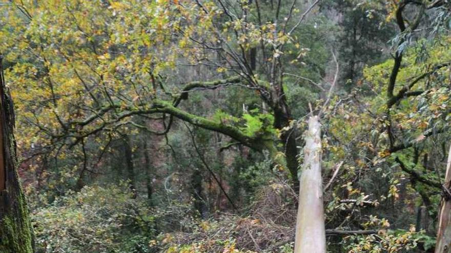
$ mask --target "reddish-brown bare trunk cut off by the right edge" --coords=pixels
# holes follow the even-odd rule
[[[451,188],[451,147],[449,147],[444,186],[448,192],[444,193],[441,201],[435,253],[451,252],[451,194],[449,193]]]

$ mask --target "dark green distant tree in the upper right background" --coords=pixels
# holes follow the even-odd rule
[[[365,65],[384,60],[389,53],[389,40],[395,35],[387,10],[378,1],[356,5],[353,0],[334,1],[331,5],[341,14],[338,21],[342,78],[353,83],[362,77]]]

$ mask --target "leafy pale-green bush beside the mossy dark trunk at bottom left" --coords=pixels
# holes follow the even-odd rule
[[[37,248],[120,253],[135,252],[136,247],[145,245],[147,252],[147,242],[156,236],[152,232],[157,215],[144,202],[132,198],[127,182],[85,187],[36,210],[33,223]]]

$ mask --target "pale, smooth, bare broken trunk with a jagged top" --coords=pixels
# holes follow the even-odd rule
[[[310,117],[309,130],[305,133],[304,164],[299,185],[294,253],[325,253],[321,124],[318,116]]]

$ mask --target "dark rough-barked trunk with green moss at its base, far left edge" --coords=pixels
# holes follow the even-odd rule
[[[17,175],[14,110],[0,56],[0,252],[32,253],[33,231]]]

